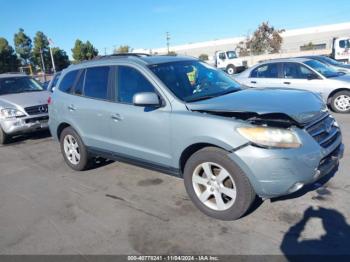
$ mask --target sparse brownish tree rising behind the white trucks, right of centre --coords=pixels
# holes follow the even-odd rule
[[[247,37],[245,41],[238,44],[237,50],[240,56],[278,53],[283,42],[280,35],[282,32],[284,32],[283,29],[277,30],[270,26],[269,22],[263,22],[251,38]]]

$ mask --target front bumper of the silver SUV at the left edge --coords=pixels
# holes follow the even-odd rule
[[[1,120],[1,128],[8,135],[31,133],[48,129],[48,120],[48,114]]]

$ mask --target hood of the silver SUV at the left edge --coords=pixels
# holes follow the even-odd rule
[[[50,93],[47,91],[28,92],[0,96],[0,107],[20,108],[47,104]]]

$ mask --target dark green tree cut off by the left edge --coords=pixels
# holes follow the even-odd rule
[[[0,37],[0,73],[18,71],[18,59],[8,41]]]

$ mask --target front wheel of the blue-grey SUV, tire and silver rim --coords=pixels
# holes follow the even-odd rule
[[[189,158],[184,183],[197,208],[221,220],[239,219],[256,197],[244,172],[226,151],[215,147],[201,149]]]

